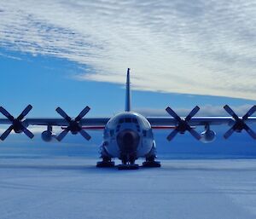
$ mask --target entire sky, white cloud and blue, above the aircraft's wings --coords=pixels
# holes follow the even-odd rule
[[[1,105],[18,115],[90,117],[132,109],[166,115],[239,115],[256,99],[253,1],[2,1]]]

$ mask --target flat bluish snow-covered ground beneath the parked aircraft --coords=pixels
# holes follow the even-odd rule
[[[139,170],[95,164],[0,158],[0,218],[256,218],[254,159],[163,160]]]

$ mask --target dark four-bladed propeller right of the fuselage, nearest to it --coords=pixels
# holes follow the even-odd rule
[[[191,112],[189,112],[189,115],[186,118],[180,118],[176,112],[172,110],[171,107],[166,108],[166,112],[168,112],[176,121],[177,121],[177,126],[176,129],[171,132],[170,135],[167,136],[167,140],[171,141],[177,133],[185,133],[185,131],[189,131],[191,135],[195,137],[195,139],[200,140],[201,135],[197,133],[193,127],[189,125],[189,121],[192,117],[195,116],[195,114],[200,110],[200,107],[195,107]]]

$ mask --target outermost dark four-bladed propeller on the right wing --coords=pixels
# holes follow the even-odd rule
[[[224,110],[230,114],[232,118],[235,119],[235,124],[224,134],[224,138],[227,139],[230,137],[230,135],[233,134],[234,131],[241,132],[241,130],[246,130],[247,133],[253,138],[256,139],[256,133],[245,123],[247,118],[249,118],[251,115],[253,115],[254,112],[256,112],[256,106],[254,105],[249,109],[249,111],[242,117],[239,118],[236,113],[228,106],[224,106]]]

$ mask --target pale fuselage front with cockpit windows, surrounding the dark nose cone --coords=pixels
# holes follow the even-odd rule
[[[137,158],[146,158],[154,153],[154,135],[147,118],[137,112],[121,112],[109,119],[103,133],[102,149],[105,149],[111,158],[120,158],[117,136],[125,130],[132,130],[140,137],[136,150]]]

